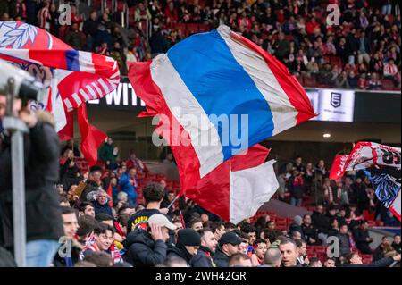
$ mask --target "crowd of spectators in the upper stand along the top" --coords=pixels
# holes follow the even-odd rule
[[[81,1],[80,13],[71,6],[71,26],[60,25],[50,0],[2,1],[0,15],[48,29],[74,48],[110,55],[123,75],[129,62],[149,60],[194,32],[226,24],[273,54],[304,86],[401,86],[397,1],[105,1],[102,13],[101,1],[91,3]],[[338,4],[339,24],[328,4]]]

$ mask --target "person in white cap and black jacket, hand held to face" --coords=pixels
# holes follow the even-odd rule
[[[129,255],[136,267],[163,264],[166,259],[169,230],[176,230],[176,226],[163,214],[153,214],[148,219],[148,225],[147,231],[137,229],[131,231],[127,237]]]

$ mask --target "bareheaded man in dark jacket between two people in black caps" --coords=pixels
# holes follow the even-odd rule
[[[198,233],[201,237],[201,247],[199,247],[197,255],[191,259],[191,267],[215,267],[212,256],[214,256],[218,241],[211,229],[205,228]]]

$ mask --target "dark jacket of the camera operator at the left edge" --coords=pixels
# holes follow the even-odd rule
[[[54,184],[59,180],[59,138],[38,122],[24,135],[27,240],[63,236],[62,213]],[[0,245],[13,247],[12,160],[10,138],[0,147]]]

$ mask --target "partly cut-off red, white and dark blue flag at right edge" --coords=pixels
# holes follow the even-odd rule
[[[357,170],[364,171],[373,184],[377,198],[400,221],[400,148],[372,142],[359,142],[348,155],[345,163],[334,163],[330,177],[339,179],[345,172]]]

